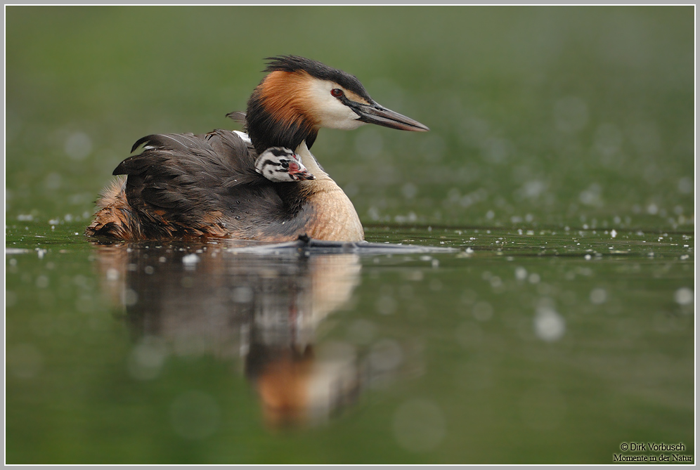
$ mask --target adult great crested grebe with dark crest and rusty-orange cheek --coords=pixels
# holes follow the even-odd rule
[[[141,138],[131,151],[144,145],[143,151],[117,166],[114,174],[120,176],[98,200],[86,235],[363,240],[352,203],[309,152],[319,129],[356,129],[365,123],[404,131],[428,128],[377,104],[342,70],[298,56],[266,60],[268,74],[254,89],[245,115],[232,113],[245,119],[247,135],[216,130]],[[261,172],[266,150],[277,152],[269,157],[298,156],[290,158],[301,165],[276,175]],[[273,163],[270,159],[268,167]]]

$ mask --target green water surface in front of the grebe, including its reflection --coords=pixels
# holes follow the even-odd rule
[[[6,248],[8,462],[692,455],[692,233],[375,226],[456,249],[376,255],[32,229]]]

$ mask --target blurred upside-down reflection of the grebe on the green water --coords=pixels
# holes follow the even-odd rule
[[[97,266],[137,343],[242,359],[271,426],[316,424],[354,403],[363,382],[354,346],[328,342],[319,354],[314,336],[351,299],[359,256],[235,247],[96,244]]]

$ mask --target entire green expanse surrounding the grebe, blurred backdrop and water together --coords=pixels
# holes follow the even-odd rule
[[[6,462],[694,458],[693,41],[692,7],[6,8]],[[134,141],[231,127],[280,53],[431,128],[313,152],[368,240],[454,252],[86,240]]]

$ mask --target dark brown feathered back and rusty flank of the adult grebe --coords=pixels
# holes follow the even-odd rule
[[[280,197],[280,185],[254,168],[257,157],[231,131],[141,138],[115,175],[127,178],[98,201],[88,235],[122,240],[173,237],[294,239],[304,224]],[[285,188],[285,193],[294,188]],[[293,197],[292,197],[293,199]],[[291,219],[294,223],[283,223]]]

